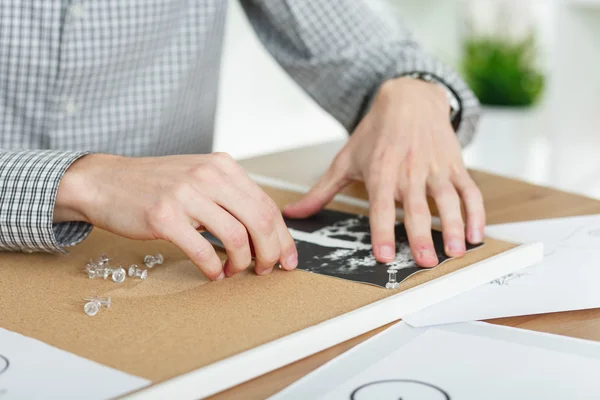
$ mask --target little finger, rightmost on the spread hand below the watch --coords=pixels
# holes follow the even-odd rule
[[[481,191],[466,170],[455,179],[454,185],[465,204],[467,240],[471,244],[481,243],[485,228],[485,207]]]

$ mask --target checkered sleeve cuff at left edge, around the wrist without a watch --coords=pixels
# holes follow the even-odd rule
[[[60,180],[85,154],[0,150],[0,250],[64,253],[86,238],[90,224],[52,223]]]

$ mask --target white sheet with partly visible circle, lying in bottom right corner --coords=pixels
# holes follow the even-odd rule
[[[398,323],[271,399],[600,399],[600,343],[486,323]]]

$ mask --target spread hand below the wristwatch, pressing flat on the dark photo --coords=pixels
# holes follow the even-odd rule
[[[463,164],[443,88],[411,78],[384,83],[369,113],[311,191],[284,208],[291,218],[307,217],[329,203],[352,180],[369,193],[373,251],[377,260],[395,258],[395,202],[405,211],[410,248],[423,267],[437,265],[431,238],[429,194],[442,221],[449,256],[465,253],[467,240],[480,243],[485,225],[481,193]],[[466,229],[461,214],[466,210]]]

